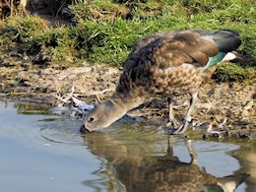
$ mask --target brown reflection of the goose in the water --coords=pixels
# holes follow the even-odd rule
[[[151,191],[234,191],[248,176],[235,173],[226,177],[216,177],[206,172],[197,164],[197,155],[190,139],[185,139],[191,161],[182,162],[173,156],[171,139],[168,140],[164,156],[151,153],[149,141],[142,145],[125,143],[121,137],[107,133],[92,133],[84,136],[89,150],[104,160],[108,169],[118,183],[125,189],[118,191],[151,192]],[[127,140],[126,140],[127,141]],[[110,163],[110,165],[109,165]],[[107,169],[107,168],[106,168]],[[110,176],[109,176],[110,177]],[[112,179],[113,180],[113,179]],[[86,184],[88,182],[85,181]],[[113,185],[113,184],[112,184]],[[91,183],[92,186],[92,183]],[[116,190],[115,190],[116,191]]]

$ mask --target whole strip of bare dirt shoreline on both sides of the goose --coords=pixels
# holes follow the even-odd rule
[[[115,90],[121,70],[105,65],[69,68],[41,68],[19,59],[17,53],[0,56],[0,98],[23,99],[57,105],[74,87],[73,96],[90,103],[106,99]],[[192,125],[206,128],[212,124],[239,137],[249,137],[256,128],[255,80],[236,83],[216,83],[212,80],[200,92],[193,114]],[[180,105],[188,96],[175,99]],[[166,100],[152,102],[130,112],[133,116],[147,118],[167,117]],[[175,110],[178,119],[187,110]],[[225,122],[224,126],[222,123]]]

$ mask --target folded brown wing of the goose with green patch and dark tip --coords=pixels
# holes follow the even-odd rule
[[[160,79],[166,85],[168,77],[182,76],[179,67],[183,64],[206,70],[221,62],[225,53],[235,50],[239,44],[239,37],[227,31],[155,33],[140,41],[128,56],[117,90],[149,87]]]

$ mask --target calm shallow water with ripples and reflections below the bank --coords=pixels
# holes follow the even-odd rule
[[[133,121],[82,136],[83,120],[69,113],[0,102],[1,191],[222,191],[235,183],[236,191],[256,190],[253,148],[192,141],[192,163],[179,137]]]

